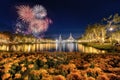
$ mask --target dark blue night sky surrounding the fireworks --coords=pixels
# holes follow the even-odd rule
[[[103,17],[120,14],[120,0],[1,0],[0,31],[14,31],[18,17],[15,6],[43,5],[48,17],[53,21],[46,36],[68,36],[73,33],[78,37],[84,33],[88,24],[100,22]]]

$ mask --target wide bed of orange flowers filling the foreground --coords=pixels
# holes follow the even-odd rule
[[[0,53],[0,80],[120,80],[120,54]]]

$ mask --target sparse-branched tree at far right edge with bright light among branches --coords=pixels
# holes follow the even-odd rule
[[[108,18],[103,19],[106,24],[107,36],[112,40],[119,42],[119,30],[120,30],[120,16],[119,14],[110,15]]]

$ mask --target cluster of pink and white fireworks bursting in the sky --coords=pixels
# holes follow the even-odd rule
[[[22,22],[16,24],[16,33],[33,34],[35,37],[39,37],[47,31],[51,20],[47,18],[47,10],[43,6],[36,5],[31,8],[22,5],[18,6],[17,10]]]

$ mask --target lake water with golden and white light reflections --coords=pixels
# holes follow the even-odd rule
[[[78,43],[41,43],[41,44],[17,44],[0,45],[0,51],[18,52],[40,52],[40,51],[59,51],[59,52],[83,52],[83,53],[105,53],[93,47],[85,47]]]

